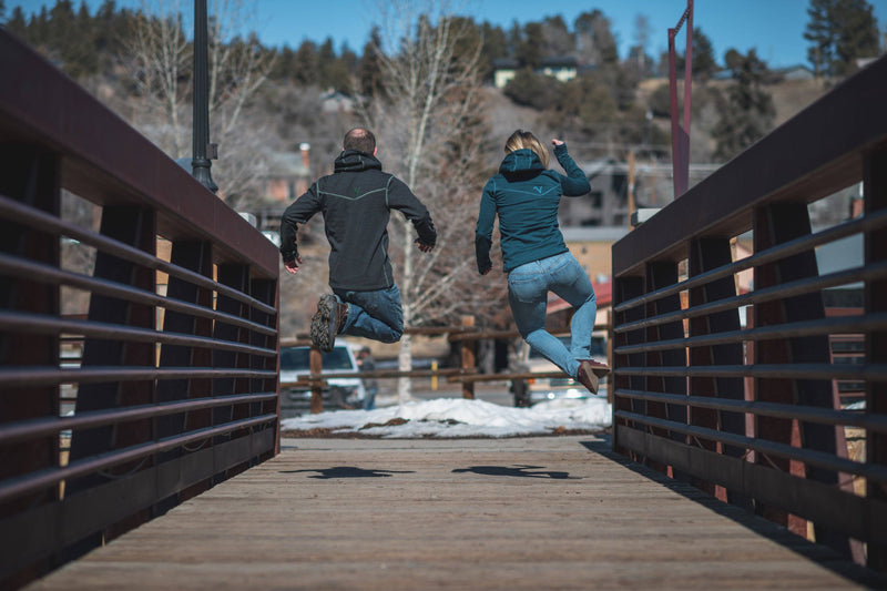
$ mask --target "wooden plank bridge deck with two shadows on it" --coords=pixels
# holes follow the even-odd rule
[[[282,447],[31,588],[877,587],[591,436]]]

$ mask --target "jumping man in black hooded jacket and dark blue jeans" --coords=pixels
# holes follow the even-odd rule
[[[404,334],[400,292],[388,258],[391,210],[412,222],[419,251],[431,252],[437,232],[428,208],[396,176],[381,171],[376,136],[355,128],[345,134],[330,175],[318,179],[281,218],[284,267],[298,273],[302,257],[296,236],[316,213],[323,213],[329,241],[329,287],[312,316],[312,343],[329,353],[336,336],[347,334],[397,343]]]

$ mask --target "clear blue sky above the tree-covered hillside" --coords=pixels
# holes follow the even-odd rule
[[[336,47],[347,43],[360,52],[374,24],[378,1],[384,0],[254,0],[254,29],[266,45],[298,47],[303,40],[323,42],[332,37]],[[875,8],[881,39],[887,27],[887,0],[868,0]],[[37,12],[54,0],[7,0],[7,14],[21,6],[26,13]],[[79,6],[80,0],[74,0]],[[212,6],[212,0],[208,1]],[[93,10],[101,0],[88,0]],[[139,0],[116,0],[118,7],[136,7]],[[185,1],[185,6],[190,2]],[[686,0],[597,0],[540,2],[539,0],[466,0],[451,2],[455,11],[489,21],[503,29],[517,21],[521,24],[560,14],[572,26],[583,11],[600,9],[611,21],[619,42],[620,57],[636,42],[634,21],[644,14],[651,26],[648,52],[657,57],[667,49],[667,29],[677,23]],[[727,49],[743,53],[756,48],[759,58],[772,68],[806,63],[808,0],[695,0],[696,28],[712,40],[717,61],[723,61]],[[682,31],[683,33],[683,31]],[[683,34],[681,35],[683,38]],[[883,43],[883,41],[881,41]],[[679,47],[683,41],[679,42]]]

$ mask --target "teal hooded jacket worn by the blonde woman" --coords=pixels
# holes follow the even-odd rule
[[[492,266],[490,247],[497,215],[506,273],[568,252],[558,225],[561,195],[578,197],[588,193],[591,185],[567,153],[567,144],[555,146],[554,156],[567,176],[546,169],[536,152],[523,149],[508,154],[499,166],[499,174],[487,181],[475,232],[479,273]]]

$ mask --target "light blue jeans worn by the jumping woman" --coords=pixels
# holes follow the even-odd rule
[[[575,308],[570,322],[570,349],[546,330],[548,292]],[[577,359],[591,359],[591,333],[598,300],[591,281],[570,253],[550,256],[513,268],[508,274],[508,302],[523,339],[544,358],[575,377]]]

